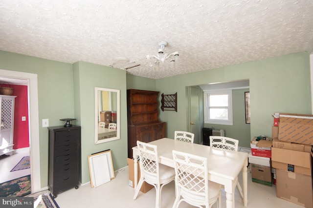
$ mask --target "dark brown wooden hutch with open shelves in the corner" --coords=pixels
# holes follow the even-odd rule
[[[152,142],[166,136],[166,123],[158,120],[157,91],[127,90],[128,157],[137,140]]]

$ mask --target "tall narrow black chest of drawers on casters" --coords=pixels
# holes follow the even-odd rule
[[[81,128],[52,126],[49,129],[48,187],[53,197],[69,188],[78,188]]]

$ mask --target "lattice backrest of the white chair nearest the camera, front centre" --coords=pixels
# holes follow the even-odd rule
[[[173,150],[173,160],[180,195],[188,203],[208,204],[207,159]]]

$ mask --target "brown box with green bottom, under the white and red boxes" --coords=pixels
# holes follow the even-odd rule
[[[272,186],[272,176],[270,167],[251,164],[251,175],[252,182],[262,184],[268,187]]]

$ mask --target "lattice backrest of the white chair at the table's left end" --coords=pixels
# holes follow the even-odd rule
[[[159,164],[157,146],[137,141],[140,159],[140,174],[144,175],[149,184],[159,183]]]

